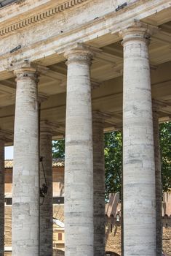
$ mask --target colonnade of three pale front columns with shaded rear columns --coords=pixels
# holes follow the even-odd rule
[[[161,171],[159,162],[155,161],[159,157],[159,139],[158,119],[155,115],[153,122],[152,113],[148,57],[150,33],[142,23],[134,23],[122,31],[124,256],[156,255],[156,216],[159,220],[160,214],[160,210],[156,214],[156,206],[161,203]],[[93,56],[92,50],[85,45],[65,52],[68,66],[64,206],[66,256],[105,255],[104,116],[98,111],[92,113],[90,66]],[[46,159],[44,170],[49,187],[48,196],[41,206],[39,72],[36,67],[25,63],[15,69],[15,75],[12,256],[49,256],[52,255],[52,129],[46,122],[41,122],[40,152]],[[3,148],[1,145],[4,145],[3,140],[0,140]],[[157,148],[155,157],[154,145]],[[40,170],[43,182],[42,167]],[[161,247],[158,251],[161,252]]]

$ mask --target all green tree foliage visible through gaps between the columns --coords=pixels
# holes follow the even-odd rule
[[[171,188],[171,122],[160,124],[160,145],[162,151],[162,186]],[[109,193],[121,192],[122,186],[122,132],[108,132],[105,142],[106,197]],[[65,140],[52,142],[54,158],[65,157]]]

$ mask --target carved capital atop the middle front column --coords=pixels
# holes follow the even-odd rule
[[[64,56],[66,59],[68,59],[68,61],[66,61],[66,64],[69,64],[71,62],[86,62],[88,64],[91,64],[94,53],[90,46],[84,45],[82,43],[76,43],[76,45],[65,50]]]

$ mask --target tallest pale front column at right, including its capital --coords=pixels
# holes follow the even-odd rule
[[[156,196],[149,30],[133,23],[124,46],[124,256],[156,255]]]

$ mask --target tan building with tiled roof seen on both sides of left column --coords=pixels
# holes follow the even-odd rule
[[[5,256],[12,255],[12,167],[13,160],[5,160]],[[53,249],[54,255],[64,250],[64,162],[53,161]]]

